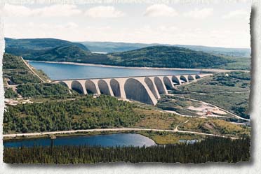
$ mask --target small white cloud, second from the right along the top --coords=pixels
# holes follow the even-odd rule
[[[184,13],[187,17],[193,17],[194,19],[205,19],[206,17],[213,14],[213,8],[195,8],[192,11],[189,11],[188,13]]]

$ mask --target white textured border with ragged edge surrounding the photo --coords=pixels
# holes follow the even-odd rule
[[[0,7],[4,3],[240,3],[240,0],[1,0]],[[248,1],[248,0],[242,0]],[[111,163],[111,164],[82,164],[82,165],[25,165],[25,164],[4,164],[3,162],[3,141],[0,143],[0,173],[236,173],[255,174],[261,171],[261,1],[253,0],[250,20],[251,34],[251,90],[249,114],[251,119],[251,157],[250,162],[237,164],[206,163],[206,164],[163,164],[163,163]],[[2,74],[2,56],[4,54],[4,23],[0,16],[0,73]],[[0,137],[3,133],[4,115],[4,85],[0,75]]]

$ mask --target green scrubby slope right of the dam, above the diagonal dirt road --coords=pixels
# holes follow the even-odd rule
[[[232,72],[218,73],[189,85],[178,87],[174,93],[189,94],[185,97],[206,101],[215,106],[248,118],[248,98],[250,91],[250,73]],[[205,95],[194,94],[206,93]],[[234,93],[237,92],[237,93]]]

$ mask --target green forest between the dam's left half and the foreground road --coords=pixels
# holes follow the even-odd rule
[[[25,103],[6,108],[4,133],[127,127],[138,122],[143,111],[112,96]]]

